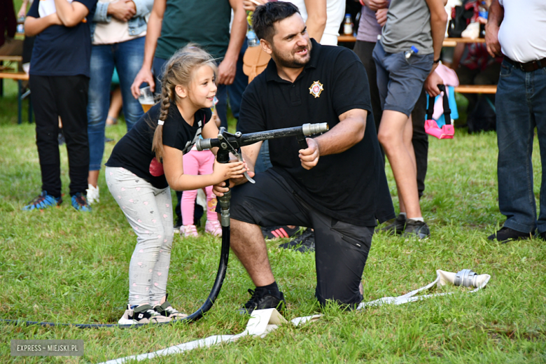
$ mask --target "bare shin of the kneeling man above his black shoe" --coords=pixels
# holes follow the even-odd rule
[[[233,253],[241,261],[256,287],[267,286],[275,281],[267,246],[258,225],[231,219],[231,241]]]

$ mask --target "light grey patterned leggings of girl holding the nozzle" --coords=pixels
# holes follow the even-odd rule
[[[129,265],[129,304],[160,304],[171,260],[171,189],[155,188],[121,167],[106,167],[106,183],[137,235]]]

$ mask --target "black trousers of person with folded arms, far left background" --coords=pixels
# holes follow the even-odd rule
[[[30,76],[32,106],[36,112],[36,146],[40,158],[42,190],[61,196],[59,116],[69,160],[70,195],[87,188],[87,90],[89,78],[79,76]]]

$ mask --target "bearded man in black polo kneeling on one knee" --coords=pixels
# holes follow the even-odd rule
[[[295,138],[270,140],[273,167],[255,184],[231,181],[240,185],[232,190],[231,248],[256,286],[242,311],[284,304],[260,230],[273,225],[314,228],[316,298],[354,308],[374,226],[395,217],[364,66],[349,49],[309,39],[292,3],[258,6],[253,28],[272,60],[244,92],[239,131],[305,123],[328,123],[330,131],[308,138],[306,149]],[[251,170],[260,145],[242,148]],[[225,191],[215,186],[217,195]]]

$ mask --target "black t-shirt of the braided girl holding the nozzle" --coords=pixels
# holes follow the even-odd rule
[[[166,188],[169,185],[163,172],[163,165],[152,151],[153,133],[158,125],[160,110],[160,104],[155,104],[140,118],[113,148],[106,166],[123,167],[150,182],[155,188]],[[211,120],[211,116],[210,109],[200,109],[195,113],[191,126],[182,118],[176,104],[172,102],[169,116],[163,125],[163,145],[179,149],[184,154],[188,153],[200,137],[204,124]],[[151,124],[154,127],[151,127]]]

